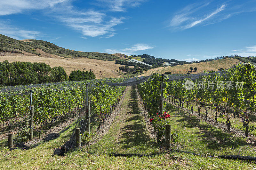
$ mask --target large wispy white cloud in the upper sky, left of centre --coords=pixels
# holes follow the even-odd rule
[[[116,33],[114,27],[122,24],[124,17],[111,17],[101,11],[76,10],[70,2],[55,6],[49,12],[58,21],[82,33],[82,37],[110,38]]]

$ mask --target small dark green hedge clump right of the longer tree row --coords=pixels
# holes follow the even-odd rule
[[[83,80],[92,80],[95,79],[95,74],[90,71],[80,71],[80,70],[73,70],[69,74],[70,81],[83,81]]]

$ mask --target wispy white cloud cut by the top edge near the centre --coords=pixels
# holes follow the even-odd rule
[[[97,0],[100,6],[107,7],[110,11],[126,12],[127,8],[137,7],[145,0]]]

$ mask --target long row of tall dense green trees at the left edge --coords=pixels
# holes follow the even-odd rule
[[[0,62],[0,86],[28,85],[68,80],[63,67],[53,67],[45,63]]]

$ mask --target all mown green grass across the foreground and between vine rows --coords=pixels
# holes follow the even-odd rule
[[[255,156],[252,146],[243,138],[233,137],[212,127],[195,116],[190,116],[167,103],[173,131],[179,132],[174,149],[202,155],[239,154]],[[52,156],[53,151],[67,141],[74,126],[60,137],[31,150],[0,148],[1,169],[252,169],[255,162],[199,157],[180,152],[160,152],[155,141],[149,138],[141,116],[135,89],[129,88],[122,110],[108,133],[96,144],[81,148],[66,156]],[[94,148],[95,147],[95,148]],[[114,157],[116,153],[150,154],[151,157]]]

